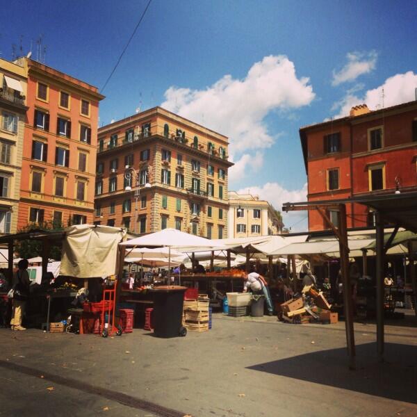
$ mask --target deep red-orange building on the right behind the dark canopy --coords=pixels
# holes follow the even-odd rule
[[[417,190],[417,101],[370,111],[363,104],[338,120],[302,127],[309,202]],[[347,227],[371,227],[362,204],[347,204]],[[329,211],[332,222],[338,213]],[[309,211],[309,230],[325,229]]]

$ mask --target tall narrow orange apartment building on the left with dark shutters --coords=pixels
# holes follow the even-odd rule
[[[97,88],[30,58],[17,228],[92,223],[99,101]]]

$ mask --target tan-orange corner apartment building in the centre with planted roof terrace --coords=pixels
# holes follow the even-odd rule
[[[161,107],[100,128],[95,224],[226,238],[227,147],[227,137]]]

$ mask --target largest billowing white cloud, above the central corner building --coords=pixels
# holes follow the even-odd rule
[[[270,111],[306,106],[314,97],[309,79],[297,78],[291,60],[265,56],[252,65],[245,79],[225,75],[204,90],[172,86],[161,106],[228,136],[229,154],[247,154],[274,143],[275,133],[268,132],[265,124]],[[249,157],[243,155],[240,166]]]

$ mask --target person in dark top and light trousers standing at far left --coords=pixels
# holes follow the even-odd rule
[[[17,268],[19,269],[13,276],[13,311],[12,320],[10,320],[12,330],[26,330],[26,328],[22,326],[22,319],[26,301],[29,297],[29,286],[31,285],[31,280],[29,279],[27,271],[28,265],[27,259],[21,259],[19,263],[17,263]]]

